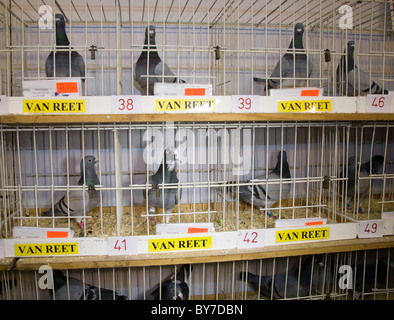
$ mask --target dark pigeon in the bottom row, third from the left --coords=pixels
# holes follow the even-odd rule
[[[310,293],[315,293],[312,286],[319,284],[320,268],[322,268],[322,262],[317,257],[309,256],[305,262],[302,263],[301,272],[297,268],[296,270],[289,270],[287,273],[276,274],[273,277],[259,277],[251,272],[240,272],[239,275],[241,281],[247,280],[254,290],[258,291],[260,289],[260,293],[269,299],[271,298],[271,293],[274,299],[295,298],[309,296]],[[311,286],[312,272],[313,280]],[[273,284],[272,281],[274,281]]]

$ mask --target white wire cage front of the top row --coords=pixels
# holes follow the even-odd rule
[[[54,14],[64,16],[70,42],[57,50],[77,51],[84,60],[84,95],[140,94],[134,65],[151,50],[144,49],[149,25],[172,72],[187,83],[212,84],[214,95],[268,94],[271,76],[279,78],[279,87],[317,86],[326,95],[374,93],[376,87],[362,91],[360,74],[354,88],[337,75],[349,41],[358,68],[381,88],[393,89],[389,0],[13,0],[0,2],[0,94],[21,96],[24,80],[47,79],[45,61],[56,49]],[[281,57],[288,50],[294,61],[303,54],[290,46],[297,23],[303,24],[304,53],[312,64],[306,73],[285,76]],[[272,74],[277,65],[283,73]]]

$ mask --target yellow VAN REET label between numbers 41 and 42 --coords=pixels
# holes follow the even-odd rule
[[[211,249],[211,248],[212,248],[212,236],[149,240],[149,252]]]

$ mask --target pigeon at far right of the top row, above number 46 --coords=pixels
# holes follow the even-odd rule
[[[361,70],[354,62],[354,41],[349,41],[336,71],[336,86],[339,95],[366,96],[367,94],[388,94]],[[347,52],[347,54],[346,54]]]

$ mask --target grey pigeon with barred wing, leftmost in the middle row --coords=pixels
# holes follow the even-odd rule
[[[98,207],[100,200],[100,192],[95,189],[95,185],[99,185],[100,181],[97,177],[94,165],[97,163],[96,158],[93,156],[86,156],[81,160],[81,177],[78,185],[86,185],[87,191],[71,190],[68,195],[64,195],[54,206],[42,213],[43,216],[80,216],[75,219],[81,229],[85,229],[83,216],[89,211]],[[85,166],[85,170],[84,170]],[[85,172],[85,176],[83,174]]]

